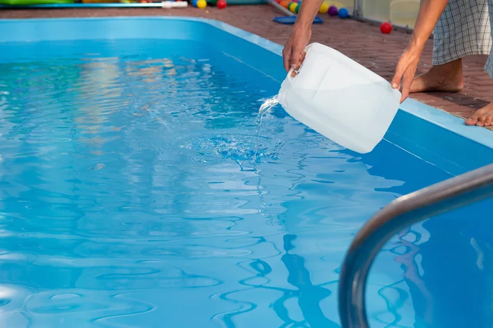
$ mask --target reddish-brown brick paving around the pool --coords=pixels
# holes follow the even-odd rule
[[[284,44],[291,31],[290,25],[277,24],[273,17],[282,16],[275,8],[260,6],[228,6],[225,10],[207,8],[74,8],[74,9],[0,9],[0,19],[42,17],[112,17],[112,16],[163,16],[178,15],[218,19],[251,33]],[[331,18],[323,15],[323,24],[313,26],[312,41],[328,44],[369,67],[380,76],[391,79],[399,56],[407,45],[409,33],[393,31],[380,33],[378,26],[352,19]],[[433,40],[429,40],[423,53],[418,73],[431,65]],[[486,56],[464,58],[464,83],[462,92],[436,92],[412,95],[429,106],[440,108],[458,117],[467,117],[493,101],[493,80],[483,71]],[[490,128],[491,129],[491,128]]]

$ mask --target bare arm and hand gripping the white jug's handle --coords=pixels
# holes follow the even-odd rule
[[[282,50],[284,69],[298,69],[304,58],[305,47],[312,38],[312,23],[323,0],[303,0],[288,42]]]

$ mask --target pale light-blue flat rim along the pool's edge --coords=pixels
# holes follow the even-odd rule
[[[213,27],[216,27],[222,31],[235,35],[238,38],[251,42],[252,44],[256,44],[259,47],[262,47],[273,54],[277,54],[278,56],[282,56],[282,45],[277,44],[273,41],[267,40],[266,38],[261,37],[260,35],[250,33],[236,26],[232,26],[225,22],[220,22],[216,19],[208,19],[202,17],[189,17],[189,16],[120,16],[120,17],[58,17],[58,18],[29,18],[29,19],[0,19],[0,25],[4,23],[12,23],[12,22],[25,22],[29,20],[30,22],[46,22],[46,21],[75,21],[75,20],[117,20],[117,19],[145,19],[145,20],[181,20],[181,21],[190,21],[190,22],[202,22],[205,24],[209,24]],[[2,42],[0,40],[0,42]],[[421,120],[425,120],[432,124],[435,124],[442,129],[446,129],[451,131],[459,136],[464,138],[468,138],[474,142],[478,142],[480,145],[484,145],[486,147],[493,149],[493,131],[489,129],[485,129],[480,126],[466,126],[464,124],[464,120],[460,117],[456,117],[455,115],[451,115],[450,113],[446,113],[444,110],[440,110],[433,106],[429,106],[421,103],[421,101],[417,101],[414,99],[407,98],[403,104],[399,107],[400,110],[403,110],[406,113],[410,113],[415,117],[420,118]]]

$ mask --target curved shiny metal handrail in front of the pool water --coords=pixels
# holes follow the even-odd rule
[[[366,222],[344,259],[339,279],[343,328],[369,328],[364,295],[369,270],[380,249],[410,224],[493,197],[493,164],[402,196]]]

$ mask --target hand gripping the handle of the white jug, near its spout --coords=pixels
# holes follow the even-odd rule
[[[305,60],[305,47],[312,38],[311,26],[293,26],[293,31],[289,36],[288,42],[282,50],[282,59],[284,60],[284,69],[299,69],[303,60]]]

